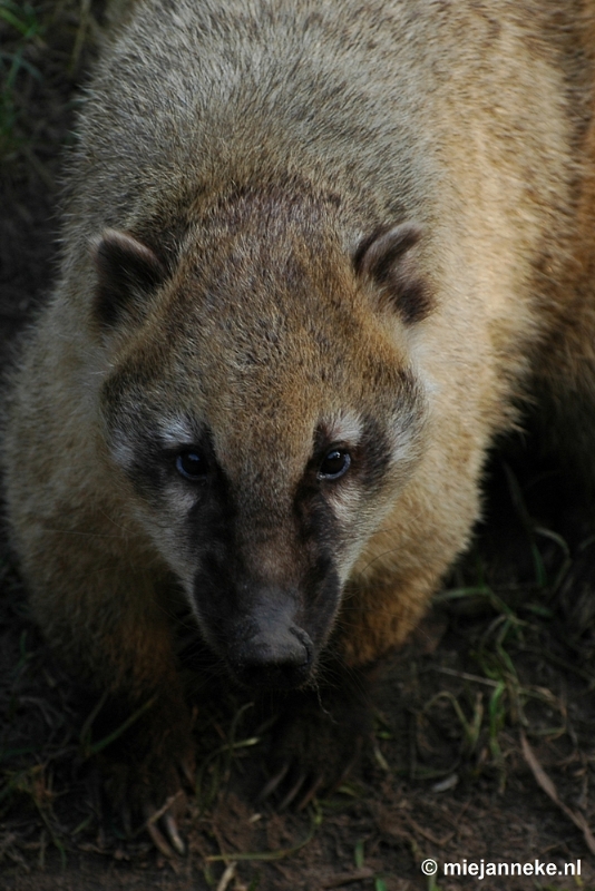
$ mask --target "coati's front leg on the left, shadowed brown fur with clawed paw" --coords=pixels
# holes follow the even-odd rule
[[[69,530],[56,531],[59,525],[31,522],[21,548],[35,617],[94,707],[101,702],[86,728],[87,750],[100,750],[96,763],[111,806],[125,825],[130,814],[146,821],[157,848],[170,854],[154,819],[169,801],[160,825],[182,852],[176,813],[184,780],[192,783],[194,747],[168,621],[174,607],[163,600],[167,574],[154,555],[135,552],[125,532],[105,522],[99,532],[97,515],[75,522],[71,511]]]

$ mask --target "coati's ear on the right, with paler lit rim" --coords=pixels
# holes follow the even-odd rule
[[[371,278],[408,325],[426,319],[432,309],[410,253],[420,237],[421,228],[414,223],[400,223],[364,238],[353,256],[358,275]]]

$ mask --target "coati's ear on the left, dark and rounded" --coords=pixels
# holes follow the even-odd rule
[[[104,327],[115,327],[138,314],[139,295],[155,290],[165,270],[149,247],[126,232],[105,229],[91,249],[97,268],[95,313]]]

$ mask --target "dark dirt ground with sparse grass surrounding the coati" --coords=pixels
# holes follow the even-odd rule
[[[100,20],[90,9],[0,0],[4,363],[55,273],[60,153]],[[175,861],[97,812],[71,685],[28,617],[3,536],[0,888],[594,891],[593,530],[535,449],[513,444],[488,482],[474,552],[386,666],[360,767],[306,813],[256,806],[270,737],[247,703],[214,692],[197,704],[199,782],[183,825],[189,851]],[[422,872],[428,859],[436,875]],[[480,880],[469,870],[481,861]],[[581,874],[565,875],[578,861]],[[468,874],[445,874],[449,863]],[[492,877],[491,863],[533,874]]]

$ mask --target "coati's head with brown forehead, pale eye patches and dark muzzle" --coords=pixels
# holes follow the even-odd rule
[[[174,268],[133,234],[94,248],[110,460],[207,645],[253,687],[313,676],[420,453],[419,233],[379,229],[350,254],[335,213],[247,192],[201,215]]]

